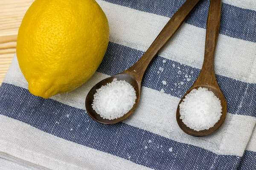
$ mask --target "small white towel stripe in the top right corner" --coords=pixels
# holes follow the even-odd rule
[[[223,3],[228,3],[239,8],[251,9],[256,11],[255,0],[222,0]]]

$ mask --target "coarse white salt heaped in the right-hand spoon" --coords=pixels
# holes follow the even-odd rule
[[[180,119],[196,131],[209,129],[221,117],[221,101],[207,88],[190,91],[180,103]]]

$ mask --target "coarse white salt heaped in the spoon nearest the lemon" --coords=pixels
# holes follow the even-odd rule
[[[125,80],[113,79],[96,90],[92,107],[103,119],[117,119],[131,110],[136,98],[132,85]]]

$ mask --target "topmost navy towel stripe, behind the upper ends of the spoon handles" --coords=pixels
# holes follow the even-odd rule
[[[186,0],[105,0],[109,3],[172,17]],[[206,28],[209,0],[203,0],[185,21]],[[220,34],[256,42],[256,11],[222,3]]]

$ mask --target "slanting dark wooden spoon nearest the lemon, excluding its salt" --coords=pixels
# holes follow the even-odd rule
[[[180,9],[172,16],[172,18],[168,21],[166,26],[164,26],[163,30],[160,32],[160,34],[157,36],[154,42],[150,45],[145,54],[134,65],[132,65],[130,68],[123,71],[122,73],[104,79],[95,86],[93,86],[93,88],[87,94],[85,100],[85,107],[88,114],[94,120],[104,124],[113,124],[126,119],[128,116],[131,115],[131,113],[134,112],[140,101],[141,81],[143,79],[143,75],[146,68],[148,67],[151,60],[157,55],[158,51],[166,44],[166,42],[173,36],[173,34],[181,26],[183,21],[190,14],[192,9],[199,3],[199,1],[201,0],[187,0],[183,4],[183,6],[181,6]],[[93,95],[96,93],[96,89],[101,88],[102,85],[106,85],[107,83],[112,82],[115,78],[117,80],[125,80],[126,82],[130,83],[134,87],[134,90],[136,91],[137,99],[135,101],[133,108],[131,108],[131,110],[128,111],[128,113],[126,113],[124,116],[113,120],[103,119],[92,108],[92,103],[94,99]]]

